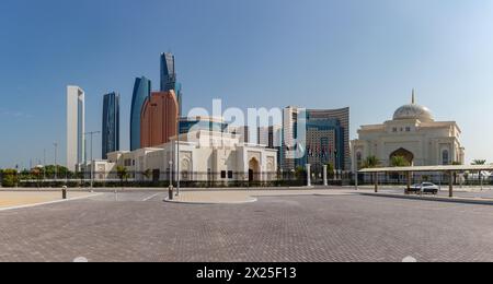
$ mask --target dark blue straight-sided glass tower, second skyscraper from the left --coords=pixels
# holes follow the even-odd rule
[[[119,151],[119,94],[110,93],[103,98],[102,157]]]

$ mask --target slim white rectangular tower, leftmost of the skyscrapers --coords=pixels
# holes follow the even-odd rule
[[[78,86],[67,86],[67,168],[76,170],[84,162],[85,94]]]

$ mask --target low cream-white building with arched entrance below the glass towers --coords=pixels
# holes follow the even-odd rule
[[[130,179],[140,181],[169,180],[170,171],[173,173],[174,180],[180,175],[180,180],[183,182],[228,184],[277,179],[276,150],[244,144],[238,137],[230,133],[205,130],[181,134],[179,143],[173,140],[156,147],[110,153],[107,161],[94,163],[95,177],[96,179],[115,178],[116,167],[122,166],[131,175]],[[180,154],[177,154],[179,149]],[[180,163],[180,170],[177,163]],[[146,171],[151,173],[151,176],[142,174]]]

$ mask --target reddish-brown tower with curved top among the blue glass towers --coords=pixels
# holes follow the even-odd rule
[[[140,125],[140,146],[152,147],[170,142],[177,134],[179,105],[174,91],[153,92],[146,99]]]

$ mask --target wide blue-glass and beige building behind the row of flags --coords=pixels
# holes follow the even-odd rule
[[[283,170],[291,171],[306,164],[316,173],[328,164],[335,170],[351,170],[349,108],[287,107],[283,116]]]

